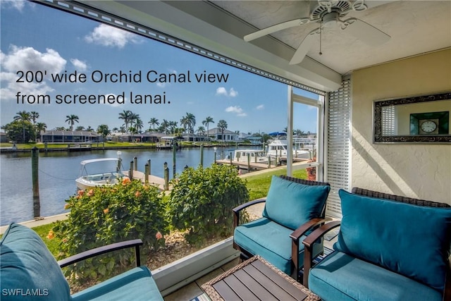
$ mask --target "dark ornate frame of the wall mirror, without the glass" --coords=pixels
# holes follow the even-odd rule
[[[451,100],[451,92],[428,94],[416,97],[398,99],[376,100],[373,106],[373,142],[374,143],[451,143],[451,135],[382,135],[382,107],[397,104],[416,104],[419,102],[434,102],[438,100]],[[451,110],[450,110],[451,111]]]

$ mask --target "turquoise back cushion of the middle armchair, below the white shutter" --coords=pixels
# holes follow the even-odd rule
[[[263,216],[295,230],[321,216],[329,190],[328,185],[304,185],[273,176]]]

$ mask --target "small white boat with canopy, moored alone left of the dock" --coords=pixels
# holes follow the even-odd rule
[[[124,177],[121,159],[89,159],[80,162],[80,175],[75,183],[79,190],[86,190],[95,186],[114,185]]]

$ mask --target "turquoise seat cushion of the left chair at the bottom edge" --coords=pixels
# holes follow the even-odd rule
[[[162,301],[163,297],[146,266],[140,266],[94,285],[73,296],[73,301],[149,300]]]

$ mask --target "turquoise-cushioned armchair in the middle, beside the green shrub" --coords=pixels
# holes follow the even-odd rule
[[[304,266],[304,245],[300,244],[315,226],[324,223],[328,183],[288,176],[273,176],[268,195],[233,209],[233,247],[242,259],[260,255],[285,274],[299,277]],[[261,219],[240,224],[240,211],[265,202]],[[323,244],[314,247],[314,254],[323,252]]]

